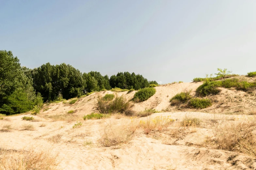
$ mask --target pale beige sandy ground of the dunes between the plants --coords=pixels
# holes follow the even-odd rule
[[[161,85],[156,87],[156,94],[144,102],[135,103],[134,111],[143,111],[145,108],[165,110],[170,107],[169,99],[184,90],[192,89],[195,95],[196,88],[202,83],[180,83]],[[162,132],[156,130],[145,134],[137,129],[131,138],[120,145],[104,147],[102,138],[106,125],[112,123],[122,126],[131,122],[129,117],[117,119],[111,116],[99,120],[83,120],[82,116],[92,113],[94,102],[98,95],[104,96],[104,91],[91,94],[79,99],[75,104],[52,103],[44,106],[35,121],[21,120],[29,113],[8,116],[0,120],[0,129],[10,125],[10,131],[0,132],[0,147],[4,149],[45,149],[58,153],[59,169],[176,169],[176,170],[224,170],[224,169],[256,169],[254,157],[226,150],[218,150],[215,146],[206,146],[206,138],[214,137],[213,122],[235,122],[256,120],[255,116],[241,114],[248,112],[255,106],[254,96],[245,92],[231,89],[222,89],[221,94],[212,96],[213,106],[200,110],[163,112],[152,114],[156,116],[170,116],[174,123]],[[128,100],[132,99],[134,92],[119,92]],[[234,96],[240,96],[236,102]],[[223,103],[223,104],[220,104]],[[220,106],[218,106],[220,105]],[[50,108],[47,111],[43,111]],[[223,109],[224,108],[224,109]],[[239,110],[235,115],[226,114]],[[69,110],[75,113],[67,114]],[[211,113],[209,113],[211,112]],[[216,113],[216,114],[214,114]],[[225,113],[225,114],[221,114]],[[59,116],[68,117],[63,121],[56,121]],[[183,127],[180,122],[184,117],[196,117],[202,120],[199,127]],[[54,119],[55,118],[55,119]],[[149,117],[136,118],[137,121]],[[81,121],[80,128],[73,129],[76,121]],[[24,125],[33,125],[34,130],[23,130]],[[177,137],[178,136],[178,137]]]

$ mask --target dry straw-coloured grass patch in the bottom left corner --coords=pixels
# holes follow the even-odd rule
[[[57,170],[58,154],[51,150],[7,150],[0,148],[1,170]]]

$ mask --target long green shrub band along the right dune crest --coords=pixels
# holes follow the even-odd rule
[[[236,90],[248,91],[256,87],[256,82],[239,81],[236,78],[225,79],[222,81],[206,81],[197,88],[197,93],[200,96],[216,95],[220,92],[218,87],[232,88]]]

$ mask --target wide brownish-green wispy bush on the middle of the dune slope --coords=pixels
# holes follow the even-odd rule
[[[103,98],[98,97],[95,103],[95,109],[99,113],[109,114],[109,113],[125,113],[129,111],[132,107],[131,103],[127,101],[124,96],[116,96],[111,101],[106,101]]]

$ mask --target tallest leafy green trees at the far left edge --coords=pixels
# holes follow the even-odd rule
[[[0,113],[16,114],[41,106],[40,93],[35,93],[32,79],[24,74],[19,59],[11,51],[0,51]]]

